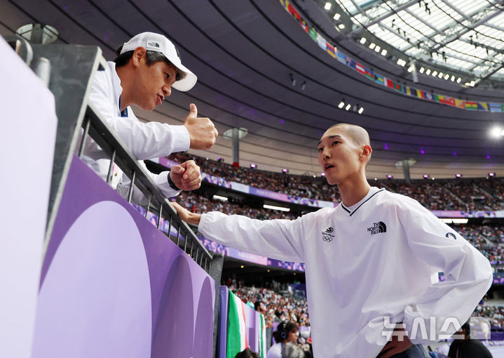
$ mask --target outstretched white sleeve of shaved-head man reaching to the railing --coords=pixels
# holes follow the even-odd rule
[[[257,220],[212,211],[201,216],[198,230],[220,244],[268,258],[304,263],[304,221],[304,217]]]

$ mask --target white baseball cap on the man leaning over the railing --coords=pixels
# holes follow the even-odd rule
[[[196,81],[198,81],[196,74],[193,74],[190,69],[182,65],[179,51],[175,45],[172,44],[172,41],[163,35],[154,34],[154,32],[142,32],[142,34],[137,34],[135,37],[132,37],[130,41],[125,42],[120,55],[128,51],[135,51],[135,49],[140,46],[144,47],[147,51],[163,53],[165,58],[172,62],[175,67],[187,74],[184,79],[176,81],[172,86],[173,88],[182,92],[189,91],[196,84]]]

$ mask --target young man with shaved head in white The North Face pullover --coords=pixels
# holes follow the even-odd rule
[[[315,357],[428,357],[421,344],[454,333],[489,289],[489,261],[414,199],[367,183],[364,128],[332,126],[318,153],[336,208],[265,221],[176,209],[208,239],[306,264]]]

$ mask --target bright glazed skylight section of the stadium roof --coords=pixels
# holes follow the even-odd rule
[[[476,83],[504,79],[503,1],[336,0],[335,3],[333,13],[341,9],[353,22],[348,30],[352,35],[367,30],[410,60],[459,69],[472,75]]]

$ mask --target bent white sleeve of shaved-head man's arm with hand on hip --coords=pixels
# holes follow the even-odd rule
[[[397,215],[413,253],[447,277],[446,281],[432,284],[418,302],[405,308],[408,336],[415,344],[449,338],[459,328],[456,324],[462,325],[469,319],[490,288],[490,263],[417,201],[402,201]],[[426,335],[420,334],[423,327]]]

